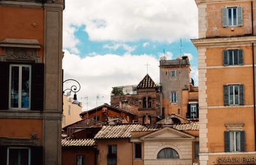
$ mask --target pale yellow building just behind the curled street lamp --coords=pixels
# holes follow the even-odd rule
[[[63,95],[63,114],[61,120],[62,128],[81,120],[79,114],[82,113],[82,103],[79,102],[79,104],[72,104],[72,100],[72,97]]]

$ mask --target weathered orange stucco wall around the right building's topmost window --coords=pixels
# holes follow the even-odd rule
[[[237,2],[234,3],[219,3],[219,4],[207,4],[206,20],[207,20],[207,38],[214,38],[216,36],[241,36],[252,33],[252,13],[251,2],[239,2],[238,6],[243,6],[243,26],[237,27],[222,27],[222,12],[223,7],[237,6]],[[255,6],[255,5],[254,5]],[[234,31],[231,29],[234,28]]]

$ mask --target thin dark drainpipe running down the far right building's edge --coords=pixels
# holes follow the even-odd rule
[[[252,7],[252,36],[253,36],[253,1],[251,2]],[[254,112],[254,143],[256,151],[256,119],[255,119],[255,67],[254,67],[254,43],[252,43],[252,72],[253,72],[253,112]]]

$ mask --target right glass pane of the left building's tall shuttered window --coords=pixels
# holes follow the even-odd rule
[[[29,108],[29,67],[22,67],[21,107]]]

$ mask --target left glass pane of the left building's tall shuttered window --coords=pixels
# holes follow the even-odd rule
[[[19,107],[19,67],[12,67],[11,107]]]

